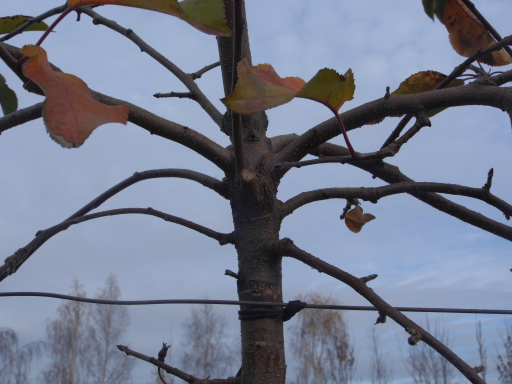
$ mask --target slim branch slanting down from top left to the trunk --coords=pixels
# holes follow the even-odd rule
[[[222,114],[215,108],[214,104],[208,100],[208,98],[201,92],[198,85],[194,81],[192,75],[183,72],[180,68],[178,68],[172,61],[163,56],[160,52],[155,50],[153,47],[148,45],[144,40],[142,40],[137,34],[131,30],[121,27],[119,24],[114,22],[113,20],[109,20],[101,16],[100,14],[94,12],[91,7],[83,7],[78,10],[80,13],[84,13],[90,16],[93,19],[94,25],[104,25],[120,33],[126,38],[130,39],[134,42],[134,44],[140,48],[142,52],[147,53],[152,58],[154,58],[157,62],[159,62],[165,69],[167,69],[170,73],[175,75],[178,80],[180,80],[183,85],[190,91],[190,93],[194,94],[194,100],[198,102],[201,108],[211,117],[211,119],[222,128]]]

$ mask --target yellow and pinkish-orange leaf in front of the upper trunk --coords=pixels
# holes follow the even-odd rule
[[[306,83],[299,77],[279,77],[269,64],[251,67],[247,59],[240,60],[237,74],[233,93],[221,99],[237,113],[254,113],[287,103]]]

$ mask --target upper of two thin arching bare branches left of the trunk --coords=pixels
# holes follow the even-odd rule
[[[123,181],[121,181],[120,183],[114,185],[112,188],[105,190],[101,195],[99,195],[97,198],[93,199],[86,205],[84,205],[82,208],[80,208],[78,211],[76,211],[73,215],[71,215],[65,221],[75,219],[77,217],[87,214],[88,212],[99,207],[106,200],[110,199],[112,196],[116,195],[121,190],[129,187],[132,184],[135,184],[142,180],[156,179],[156,178],[161,178],[161,177],[177,177],[177,178],[197,181],[201,185],[203,185],[207,188],[210,188],[212,190],[215,190],[223,198],[226,198],[226,199],[228,198],[227,188],[224,185],[224,183],[222,181],[219,181],[210,176],[204,175],[199,172],[195,172],[194,170],[190,170],[190,169],[178,169],[178,168],[151,169],[151,170],[144,170],[143,172],[135,172],[129,178],[126,178]]]

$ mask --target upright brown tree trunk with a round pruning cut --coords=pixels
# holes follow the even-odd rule
[[[226,19],[233,37],[218,37],[224,92],[237,81],[236,64],[250,49],[243,0],[225,1]],[[277,182],[265,159],[272,151],[266,137],[265,113],[228,113],[224,131],[235,147],[233,173],[226,175],[231,189],[234,243],[238,252],[238,295],[241,301],[282,302],[281,258],[271,245],[279,240],[282,203],[276,199]],[[275,308],[242,306],[258,313]],[[249,317],[252,315],[249,315]],[[241,320],[241,383],[284,384],[286,374],[282,316]]]

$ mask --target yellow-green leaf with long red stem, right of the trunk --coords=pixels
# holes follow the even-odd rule
[[[297,93],[297,97],[318,101],[337,113],[346,101],[354,98],[354,91],[354,75],[351,69],[342,76],[333,69],[324,68],[306,83]]]

